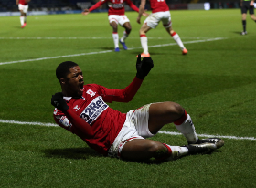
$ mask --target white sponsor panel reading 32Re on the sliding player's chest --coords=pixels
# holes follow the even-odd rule
[[[109,106],[99,96],[91,101],[91,103],[81,112],[80,118],[91,124],[101,113]]]

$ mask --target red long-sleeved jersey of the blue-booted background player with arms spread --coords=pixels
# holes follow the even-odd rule
[[[135,6],[131,0],[101,0],[95,5],[91,6],[91,8],[89,9],[90,12],[107,2],[109,6],[109,15],[124,15],[124,2],[131,8],[133,8],[134,11],[139,12],[139,8]]]

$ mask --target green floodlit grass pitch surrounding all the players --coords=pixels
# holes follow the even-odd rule
[[[239,9],[171,14],[187,56],[176,45],[161,47],[174,41],[160,24],[147,34],[155,67],[133,101],[110,106],[126,112],[150,102],[175,101],[191,115],[199,134],[255,138],[255,23],[248,16],[248,35],[240,36]],[[18,16],[0,17],[0,119],[54,123],[50,98],[60,91],[55,68],[62,61],[77,62],[85,83],[126,87],[135,76],[136,55],[142,52],[137,13],[127,16],[133,27],[126,40],[131,50],[121,47],[119,53],[112,51],[107,13],[27,16],[24,29]],[[213,38],[219,40],[206,41]],[[169,124],[163,131],[176,128]],[[182,136],[158,134],[153,139],[186,144]],[[212,154],[164,163],[101,157],[59,127],[0,122],[0,143],[1,187],[256,185],[255,140],[225,139],[225,146]]]

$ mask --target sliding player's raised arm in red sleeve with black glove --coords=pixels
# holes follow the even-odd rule
[[[136,68],[137,68],[137,74],[136,77],[133,78],[133,81],[127,86],[125,89],[110,89],[109,93],[110,95],[109,100],[107,101],[117,101],[117,102],[129,102],[133,99],[135,94],[137,93],[138,89],[140,89],[144,78],[148,75],[151,68],[154,67],[153,60],[151,57],[144,57],[144,59],[141,61],[141,55],[138,55],[137,62],[136,62]],[[107,94],[108,90],[106,90]]]

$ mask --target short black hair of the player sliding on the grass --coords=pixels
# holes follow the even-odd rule
[[[65,61],[59,64],[59,66],[56,68],[56,77],[59,79],[60,78],[67,78],[67,75],[70,73],[70,68],[74,68],[78,66],[73,61]]]

